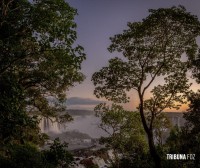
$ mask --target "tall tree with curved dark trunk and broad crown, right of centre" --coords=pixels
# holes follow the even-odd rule
[[[128,102],[126,93],[131,89],[137,91],[149,150],[156,167],[162,167],[153,140],[154,121],[166,108],[178,108],[184,103],[182,93],[190,85],[186,78],[187,63],[181,61],[181,56],[197,50],[200,24],[182,6],[149,12],[142,22],[128,23],[127,30],[111,38],[108,50],[121,52],[125,58],[109,60],[109,66],[95,72],[92,81],[98,98],[115,102]],[[165,84],[154,86],[152,97],[145,100],[147,89],[162,78]]]

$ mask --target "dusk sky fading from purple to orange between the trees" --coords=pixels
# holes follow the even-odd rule
[[[92,110],[105,99],[98,100],[93,94],[92,74],[108,65],[108,60],[120,56],[111,54],[107,48],[111,44],[109,38],[122,33],[127,22],[142,21],[149,15],[148,9],[168,8],[183,5],[187,11],[200,19],[199,0],[66,0],[70,6],[78,10],[75,17],[77,23],[77,43],[84,47],[87,59],[82,63],[82,72],[86,79],[76,84],[67,93],[68,108]],[[162,82],[157,80],[156,84]],[[194,81],[192,81],[194,82]],[[197,90],[199,85],[194,84]],[[130,92],[131,101],[125,109],[135,110],[138,105],[136,92]],[[183,106],[179,111],[184,111]],[[173,110],[172,110],[173,111]]]

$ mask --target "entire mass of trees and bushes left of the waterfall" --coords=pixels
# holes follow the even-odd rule
[[[0,167],[65,167],[66,146],[47,138],[39,118],[70,121],[66,91],[84,75],[83,47],[76,46],[77,14],[64,0],[0,1]],[[48,163],[47,163],[48,162]]]

